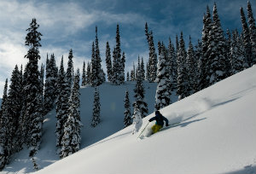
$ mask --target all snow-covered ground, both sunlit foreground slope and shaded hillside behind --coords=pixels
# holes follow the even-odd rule
[[[93,89],[81,90],[83,149],[58,161],[55,113],[49,113],[36,160],[40,168],[56,162],[37,173],[256,173],[256,67],[161,109],[170,124],[178,124],[143,138],[137,138],[140,132],[131,135],[131,126],[121,130],[125,93],[119,93],[131,85],[101,86],[108,94],[102,94],[104,113],[102,124],[96,129],[90,128],[93,95],[89,91]],[[151,114],[143,119],[143,127],[154,116],[155,84],[146,86]],[[108,136],[115,131],[118,132]],[[103,137],[106,138],[99,141]],[[9,171],[32,171],[26,150],[17,154],[3,173]]]

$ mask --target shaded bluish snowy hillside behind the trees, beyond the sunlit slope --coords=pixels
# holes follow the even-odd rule
[[[145,101],[148,102],[148,112],[154,111],[154,96],[156,84],[144,83],[146,94]],[[113,133],[120,131],[124,127],[124,99],[125,90],[129,90],[130,101],[134,101],[133,89],[135,82],[128,82],[124,85],[115,86],[109,83],[102,84],[100,90],[100,101],[102,105],[102,113],[100,125],[96,128],[90,126],[92,119],[92,106],[94,88],[90,86],[82,87],[81,96],[81,120],[84,127],[81,129],[81,148],[85,148],[95,142],[106,138]],[[177,101],[177,96],[172,96],[172,101]],[[55,149],[55,110],[51,111],[44,118],[44,132],[42,144],[35,160],[39,169],[54,163],[59,159]],[[32,172],[32,159],[28,157],[29,151],[25,148],[20,153],[15,154],[9,165],[7,165],[0,173],[27,173]]]

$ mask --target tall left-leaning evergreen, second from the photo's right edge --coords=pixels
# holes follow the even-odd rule
[[[252,58],[252,44],[250,39],[250,31],[247,26],[247,20],[243,9],[240,9],[241,12],[241,25],[242,25],[242,39],[243,39],[243,47],[244,47],[244,54],[245,54],[245,67],[252,67],[253,58]]]

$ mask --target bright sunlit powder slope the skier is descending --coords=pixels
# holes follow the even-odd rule
[[[254,66],[161,109],[177,125],[142,140],[130,126],[36,173],[255,173],[255,106]]]

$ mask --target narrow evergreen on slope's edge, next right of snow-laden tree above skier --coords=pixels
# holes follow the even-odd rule
[[[182,100],[184,97],[189,96],[188,90],[188,74],[186,66],[186,49],[183,40],[183,32],[181,32],[179,40],[179,50],[177,53],[177,95],[178,100]]]

